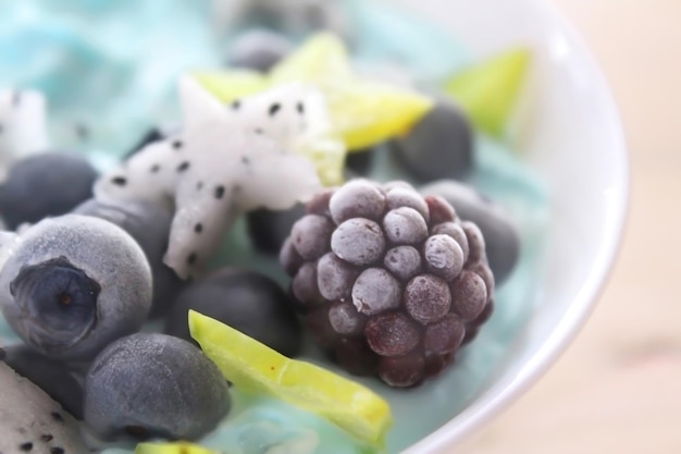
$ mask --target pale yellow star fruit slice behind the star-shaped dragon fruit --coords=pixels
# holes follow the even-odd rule
[[[416,90],[356,76],[343,41],[330,33],[313,35],[262,77],[268,86],[296,82],[315,85],[327,99],[331,135],[340,137],[349,151],[408,132],[433,106],[429,97]],[[201,73],[197,78],[224,102],[252,95],[260,84],[258,77],[251,81],[243,71],[234,70]]]

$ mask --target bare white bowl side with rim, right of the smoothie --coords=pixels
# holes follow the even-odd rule
[[[577,335],[617,254],[628,201],[628,157],[607,83],[566,20],[538,0],[414,0],[474,54],[525,42],[534,52],[528,162],[550,184],[547,244],[535,309],[505,360],[466,407],[405,453],[445,452],[525,392]]]

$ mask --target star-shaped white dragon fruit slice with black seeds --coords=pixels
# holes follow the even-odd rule
[[[104,175],[95,195],[174,201],[164,261],[184,279],[212,258],[242,212],[286,209],[311,198],[321,184],[312,162],[292,150],[314,131],[305,127],[307,116],[299,112],[319,109],[313,97],[265,93],[234,109],[188,77],[181,81],[179,93],[184,122],[178,136],[147,146]],[[277,112],[270,115],[275,103]]]

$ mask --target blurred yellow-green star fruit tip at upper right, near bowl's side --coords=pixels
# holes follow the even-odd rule
[[[500,138],[527,78],[528,49],[513,49],[454,75],[445,91],[473,124]]]

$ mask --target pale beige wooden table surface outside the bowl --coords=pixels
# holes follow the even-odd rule
[[[545,0],[575,25],[627,130],[632,193],[589,323],[458,454],[681,453],[681,0]]]

